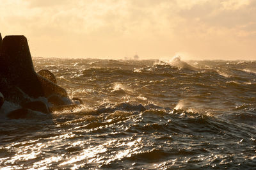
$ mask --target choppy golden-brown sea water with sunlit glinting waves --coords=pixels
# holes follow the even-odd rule
[[[1,169],[256,167],[256,61],[33,63],[84,104],[10,120],[20,106],[5,102]]]

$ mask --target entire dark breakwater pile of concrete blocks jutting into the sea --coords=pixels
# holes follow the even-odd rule
[[[77,102],[70,100],[67,91],[56,82],[49,70],[35,72],[25,36],[5,36],[2,40],[0,34],[0,109],[6,101],[20,106],[9,112],[8,118],[76,107]]]

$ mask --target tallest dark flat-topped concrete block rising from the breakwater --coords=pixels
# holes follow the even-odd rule
[[[7,77],[30,97],[43,97],[44,91],[34,70],[25,36],[5,36],[0,54],[0,78]]]

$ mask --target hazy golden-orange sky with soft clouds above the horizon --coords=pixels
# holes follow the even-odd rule
[[[0,0],[35,57],[256,59],[255,0]]]

